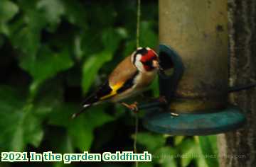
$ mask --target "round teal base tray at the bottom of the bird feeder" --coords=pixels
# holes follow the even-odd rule
[[[172,135],[208,135],[238,129],[245,123],[245,115],[234,106],[208,113],[181,113],[178,116],[161,110],[148,110],[150,113],[144,118],[144,127]]]

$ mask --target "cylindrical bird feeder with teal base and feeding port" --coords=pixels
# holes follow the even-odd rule
[[[228,4],[222,0],[159,1],[159,77],[167,108],[151,108],[154,132],[206,135],[241,127],[245,116],[228,104]],[[177,113],[178,116],[171,115]]]

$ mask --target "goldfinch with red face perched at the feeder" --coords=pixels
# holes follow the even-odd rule
[[[82,110],[79,113],[74,113],[72,117],[75,118],[85,109],[105,101],[121,103],[131,110],[137,110],[137,102],[129,105],[122,100],[144,91],[159,70],[162,69],[159,65],[158,54],[149,47],[138,47],[117,65],[107,81],[95,93],[85,98]]]

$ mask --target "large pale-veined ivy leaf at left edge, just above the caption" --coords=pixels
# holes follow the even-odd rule
[[[43,86],[40,97],[33,103],[23,89],[0,86],[0,149],[24,151],[27,144],[36,147],[41,144],[42,124],[63,96],[62,88],[57,85],[58,82],[52,81]]]

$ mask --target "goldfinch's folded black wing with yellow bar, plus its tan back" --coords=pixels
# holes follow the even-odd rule
[[[89,98],[85,100],[84,105],[92,105],[100,100],[107,100],[126,91],[133,86],[134,78],[137,76],[137,68],[132,64],[131,57],[127,57],[112,71],[109,79],[105,84]]]

